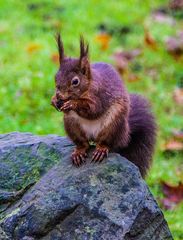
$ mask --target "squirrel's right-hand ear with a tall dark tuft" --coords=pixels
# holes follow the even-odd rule
[[[83,36],[80,37],[80,58],[79,65],[81,72],[85,75],[90,74],[90,62],[89,62],[89,44],[86,44]]]

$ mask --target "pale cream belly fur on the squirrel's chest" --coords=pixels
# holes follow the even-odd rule
[[[113,124],[117,115],[121,112],[122,105],[120,103],[113,104],[108,111],[96,120],[88,120],[80,117],[76,112],[70,111],[68,117],[72,117],[80,124],[89,140],[95,140],[100,132]]]

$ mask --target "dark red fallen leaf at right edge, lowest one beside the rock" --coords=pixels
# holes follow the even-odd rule
[[[162,199],[162,204],[166,209],[174,208],[183,200],[183,184],[177,186],[171,185],[164,181],[161,182],[162,192],[165,198]]]

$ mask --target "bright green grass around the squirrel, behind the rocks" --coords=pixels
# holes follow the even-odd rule
[[[66,53],[71,56],[78,56],[78,38],[84,34],[90,43],[92,61],[113,63],[111,55],[115,49],[142,48],[143,55],[136,60],[140,68],[135,73],[140,80],[126,81],[126,85],[130,91],[141,93],[151,101],[157,118],[158,142],[147,182],[159,200],[162,197],[160,180],[175,184],[183,180],[176,175],[176,170],[182,166],[183,155],[164,155],[161,151],[171,130],[183,128],[182,109],[172,100],[178,76],[182,74],[182,64],[166,52],[164,44],[168,35],[181,29],[183,22],[179,20],[172,27],[150,18],[153,9],[167,2],[0,0],[0,132],[65,135],[62,115],[50,106],[58,68],[51,61],[52,54],[57,52],[56,32],[62,31]],[[110,29],[128,26],[132,31],[123,37],[114,35],[109,48],[101,51],[95,40],[97,26],[101,23]],[[157,51],[144,46],[144,26],[156,39]],[[30,44],[37,44],[39,49],[28,53]],[[132,69],[136,63],[131,64]],[[174,238],[183,239],[183,204],[163,212]]]

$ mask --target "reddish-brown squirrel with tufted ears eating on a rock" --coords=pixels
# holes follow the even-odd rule
[[[90,143],[95,143],[92,162],[102,162],[116,152],[134,163],[142,177],[152,162],[156,139],[155,118],[147,100],[130,94],[112,65],[91,64],[89,44],[80,37],[80,57],[64,55],[60,34],[56,37],[59,70],[51,104],[64,113],[64,127],[76,148],[75,166],[86,161]]]

